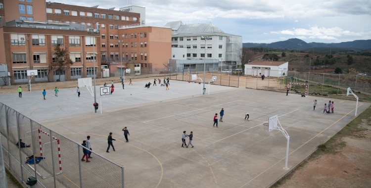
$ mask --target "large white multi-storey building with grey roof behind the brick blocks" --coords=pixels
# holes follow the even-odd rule
[[[224,33],[212,23],[184,25],[182,21],[175,21],[166,26],[173,32],[173,49],[187,49],[186,59],[204,59],[206,56],[206,59],[218,59],[220,66],[241,64],[237,51],[242,47],[242,36]],[[201,36],[207,40],[201,40]],[[177,53],[174,50],[172,54],[183,57],[183,54]]]

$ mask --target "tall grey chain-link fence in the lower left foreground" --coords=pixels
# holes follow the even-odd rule
[[[24,184],[33,176],[39,188],[124,188],[123,166],[93,151],[81,161],[84,146],[2,103],[0,133],[4,163]]]

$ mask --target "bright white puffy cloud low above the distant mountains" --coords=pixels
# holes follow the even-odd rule
[[[338,37],[343,35],[346,36],[364,36],[365,33],[357,33],[352,31],[344,31],[340,27],[311,27],[309,29],[304,28],[293,28],[293,30],[281,30],[281,31],[272,31],[272,34],[281,34],[281,35],[295,35],[298,39],[324,39],[324,40],[337,40]]]

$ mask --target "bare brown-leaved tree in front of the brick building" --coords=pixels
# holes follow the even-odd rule
[[[51,70],[54,68],[57,68],[56,71],[59,73],[59,81],[60,81],[60,75],[63,71],[67,72],[67,69],[69,69],[70,65],[73,65],[73,61],[70,59],[70,55],[68,54],[68,51],[66,48],[60,48],[59,45],[54,47],[53,51],[54,61],[52,61],[48,68],[48,74]],[[48,77],[49,79],[49,77]]]

